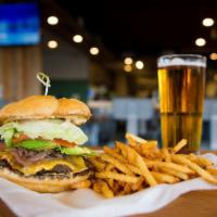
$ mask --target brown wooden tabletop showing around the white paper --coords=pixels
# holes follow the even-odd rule
[[[216,152],[214,152],[216,153]],[[157,203],[157,202],[156,202]],[[145,206],[145,204],[144,204]],[[215,217],[217,216],[217,190],[193,191],[186,193],[167,206],[133,217]],[[0,217],[16,217],[0,200]]]

